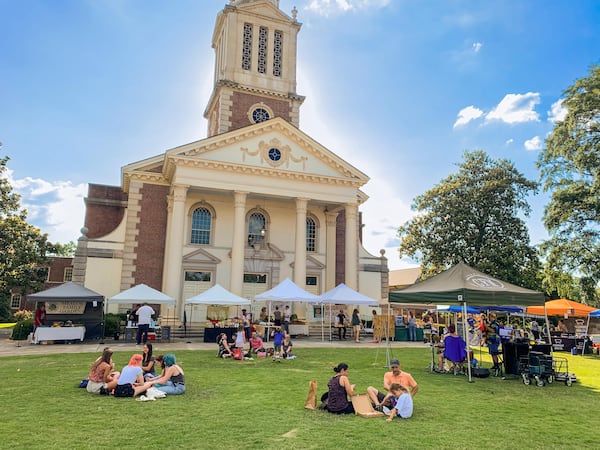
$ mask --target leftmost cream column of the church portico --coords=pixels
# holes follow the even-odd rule
[[[189,186],[173,185],[171,187],[172,208],[169,220],[168,246],[165,251],[166,263],[164,271],[165,294],[177,302],[177,311],[183,311],[181,299],[181,260],[183,257],[183,239],[185,230],[185,199]]]

